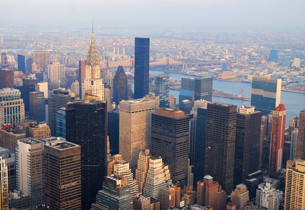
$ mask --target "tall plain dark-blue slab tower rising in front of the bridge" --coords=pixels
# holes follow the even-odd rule
[[[134,39],[134,98],[149,93],[149,38]]]

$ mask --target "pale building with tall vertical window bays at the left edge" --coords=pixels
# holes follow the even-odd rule
[[[11,124],[14,127],[23,119],[24,104],[20,91],[12,88],[0,89],[0,126]]]

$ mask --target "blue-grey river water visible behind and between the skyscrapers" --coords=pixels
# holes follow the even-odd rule
[[[160,74],[166,74],[170,76],[173,80],[181,80],[182,77],[194,77],[190,75],[181,75],[175,73],[167,73],[162,71],[154,71],[151,70],[150,74],[157,76]],[[244,89],[245,97],[251,97],[251,84],[245,82],[229,82],[222,80],[213,80],[213,89],[223,91],[230,94],[238,94],[241,91],[241,88]],[[176,90],[170,90],[170,95],[174,95],[177,99],[179,98],[179,92]],[[234,104],[237,107],[241,107],[242,105],[250,105],[250,101],[242,101],[238,99],[225,98],[225,97],[216,97],[213,96],[213,101]],[[281,103],[283,103],[286,107],[286,125],[291,117],[299,115],[300,111],[305,109],[305,94],[291,93],[282,91],[281,92]]]

